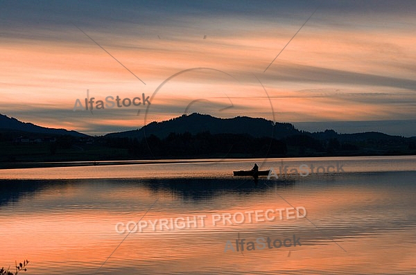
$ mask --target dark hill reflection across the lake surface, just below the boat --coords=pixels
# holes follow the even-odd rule
[[[0,206],[17,203],[21,197],[33,197],[46,189],[66,189],[70,186],[95,186],[101,188],[139,188],[150,193],[165,193],[191,202],[212,199],[216,195],[232,193],[239,196],[264,193],[270,188],[294,188],[295,179],[257,182],[248,178],[168,178],[168,179],[60,179],[60,180],[3,180],[0,181]]]

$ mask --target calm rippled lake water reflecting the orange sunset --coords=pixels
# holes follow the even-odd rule
[[[0,265],[28,258],[26,274],[416,274],[415,161],[205,159],[0,170]],[[232,176],[254,162],[277,172],[338,162],[344,172],[257,183]],[[276,209],[292,206],[304,207],[306,218],[293,211],[288,219],[284,210],[280,219]],[[274,220],[245,214],[268,209]],[[200,218],[192,223],[197,215],[206,216],[203,226]],[[132,229],[141,218],[142,227],[148,223],[141,232],[116,232],[117,223]],[[273,247],[293,235],[301,246]],[[272,248],[236,251],[236,240],[257,238],[270,238]]]

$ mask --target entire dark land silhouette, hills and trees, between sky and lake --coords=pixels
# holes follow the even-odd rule
[[[153,122],[135,131],[87,136],[0,115],[0,152],[0,168],[45,166],[44,162],[60,166],[62,161],[92,161],[83,165],[93,165],[139,159],[392,156],[416,155],[416,137],[333,130],[311,133],[264,118],[203,114]]]

